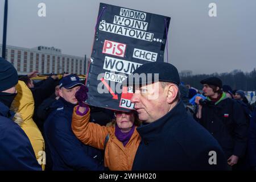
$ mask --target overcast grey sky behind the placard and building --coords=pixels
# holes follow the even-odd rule
[[[46,3],[46,17],[38,4]],[[61,48],[89,57],[100,2],[171,16],[169,63],[193,73],[250,72],[256,67],[255,0],[9,0],[7,45]],[[209,17],[209,3],[217,17]],[[3,31],[0,0],[0,42]]]

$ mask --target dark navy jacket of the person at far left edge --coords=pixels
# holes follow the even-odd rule
[[[42,170],[27,135],[11,120],[13,116],[14,113],[0,102],[0,171]]]

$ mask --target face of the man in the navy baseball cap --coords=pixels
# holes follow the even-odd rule
[[[81,86],[75,86],[71,89],[65,89],[64,87],[61,87],[59,90],[60,97],[63,97],[65,101],[71,103],[71,104],[77,104],[77,100],[75,97],[75,94],[77,90],[80,89]]]

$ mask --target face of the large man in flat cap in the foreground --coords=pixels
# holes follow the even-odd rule
[[[167,93],[168,89],[162,88],[160,82],[135,88],[131,102],[135,104],[139,119],[151,123],[166,115],[170,110]]]

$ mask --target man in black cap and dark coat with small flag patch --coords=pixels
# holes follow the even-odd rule
[[[246,150],[247,126],[243,109],[236,101],[222,92],[222,81],[209,77],[200,81],[207,97],[205,102],[196,98],[197,120],[218,140],[225,152],[230,169],[237,164]]]

